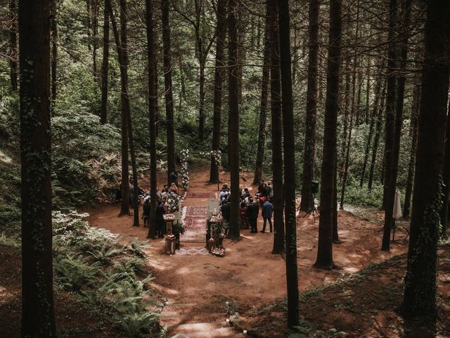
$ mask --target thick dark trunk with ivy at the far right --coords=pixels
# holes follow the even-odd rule
[[[404,318],[418,325],[433,325],[437,316],[436,262],[449,89],[449,18],[449,1],[428,1],[413,213],[402,304]]]

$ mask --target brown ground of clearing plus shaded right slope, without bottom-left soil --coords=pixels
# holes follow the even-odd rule
[[[199,193],[217,191],[216,184],[207,183],[208,174],[207,170],[191,173],[190,194],[195,192],[201,196]],[[248,183],[252,182],[251,173],[242,173],[242,176]],[[221,173],[220,178],[229,182],[228,173]],[[162,180],[164,177],[160,177],[159,182]],[[148,188],[146,182],[142,185]],[[190,198],[188,194],[184,205],[205,207],[206,199]],[[98,204],[88,210],[89,221],[92,226],[145,240],[148,229],[132,227],[131,216],[117,218],[118,210],[115,204]],[[408,242],[403,240],[406,232],[397,232],[399,242],[392,244],[390,252],[383,252],[380,251],[383,229],[378,220],[371,222],[340,211],[338,227],[342,244],[333,246],[333,258],[340,269],[318,270],[313,264],[319,221],[314,221],[311,215],[305,218],[303,215],[300,213],[297,217],[299,289],[306,292],[302,296],[302,318],[318,328],[348,332],[350,337],[400,337],[401,320],[390,304],[398,306],[401,301],[405,256],[397,255],[408,249]],[[380,213],[371,215],[380,217]],[[262,218],[258,220],[258,230],[262,230]],[[250,230],[241,230],[240,241],[227,239],[224,242],[226,255],[223,258],[195,254],[169,256],[164,253],[164,239],[151,240],[147,250],[148,265],[155,275],[153,287],[165,303],[162,325],[169,327],[169,333],[184,333],[186,337],[239,337],[243,330],[254,337],[287,337],[283,306],[285,261],[283,256],[271,253],[273,238],[272,233],[251,234]],[[195,252],[204,243],[181,243],[181,246],[193,248]],[[375,263],[383,264],[375,268]],[[441,263],[439,268],[444,272],[439,273],[439,292],[446,294],[444,307],[448,313],[450,268],[444,258]],[[341,282],[334,283],[368,266],[371,269],[364,283],[355,283],[352,277],[343,291]],[[315,289],[326,285],[330,288]],[[333,289],[333,285],[338,285],[341,292]],[[321,296],[305,296],[315,293]],[[232,331],[226,318],[236,312],[239,319],[232,323],[236,329]],[[441,327],[450,330],[449,323]]]

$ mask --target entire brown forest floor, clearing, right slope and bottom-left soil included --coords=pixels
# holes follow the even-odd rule
[[[251,173],[241,174],[252,182]],[[208,178],[205,169],[191,173],[185,206],[206,206],[203,193],[217,192],[217,185],[208,184]],[[220,178],[229,182],[228,173],[221,173]],[[162,175],[158,177],[158,182],[164,180]],[[148,182],[141,182],[141,187],[148,189]],[[359,209],[349,210],[352,213],[340,211],[338,215],[342,244],[333,246],[334,261],[340,266],[336,270],[313,268],[319,220],[314,221],[311,215],[303,218],[304,213],[297,217],[302,330],[335,329],[347,332],[347,337],[402,337],[404,323],[396,309],[401,304],[406,271],[406,232],[397,232],[399,242],[392,244],[390,252],[380,251],[383,214],[368,211],[361,216]],[[132,227],[131,215],[117,217],[118,204],[98,203],[85,211],[90,213],[93,227],[121,234],[126,242],[130,237],[146,240],[148,228],[142,223]],[[260,217],[258,230],[262,230]],[[169,329],[167,337],[177,333],[186,338],[241,337],[243,330],[250,337],[288,337],[285,261],[271,253],[273,233],[241,230],[240,234],[238,242],[226,239],[223,258],[201,253],[204,243],[186,243],[182,237],[182,248],[192,249],[193,254],[169,256],[164,253],[164,239],[150,240],[148,268],[155,276],[150,310],[161,313],[161,323]],[[441,246],[437,337],[450,337],[449,257],[450,245]],[[20,251],[0,246],[0,261],[4,262],[0,265],[0,337],[20,337]],[[72,293],[56,288],[55,308],[61,337],[121,337]],[[231,318],[231,325],[227,318]]]

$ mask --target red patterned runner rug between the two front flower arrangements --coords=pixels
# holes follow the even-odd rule
[[[186,206],[184,227],[186,232],[180,236],[180,242],[205,243],[207,208]]]

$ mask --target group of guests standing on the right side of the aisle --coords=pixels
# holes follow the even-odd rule
[[[221,205],[221,214],[226,223],[230,221],[230,189],[227,184],[221,189],[219,194],[219,203]],[[259,184],[258,192],[255,196],[250,194],[248,188],[243,189],[240,195],[240,228],[248,229],[251,233],[257,233],[257,221],[259,216],[259,206],[261,206],[261,215],[263,218],[263,226],[261,232],[266,232],[266,224],[269,223],[270,232],[273,231],[272,215],[274,214],[274,206],[271,198],[274,196],[271,182],[262,181]]]

